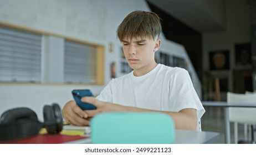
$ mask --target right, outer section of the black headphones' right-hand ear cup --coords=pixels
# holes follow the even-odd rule
[[[60,109],[58,104],[53,104],[53,113],[56,120],[56,132],[59,133],[63,128],[63,118],[62,118],[62,110]]]

